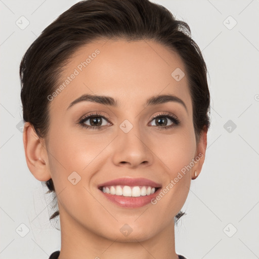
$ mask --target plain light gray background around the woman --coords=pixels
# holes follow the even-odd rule
[[[28,170],[17,128],[19,64],[39,33],[76,2],[0,0],[1,259],[47,259],[60,249],[60,231],[49,222],[52,197]],[[152,2],[190,25],[210,76],[206,159],[176,227],[176,251],[187,259],[259,258],[259,1]],[[23,30],[16,25],[26,25],[21,16],[29,21]],[[29,230],[24,237],[21,224]]]

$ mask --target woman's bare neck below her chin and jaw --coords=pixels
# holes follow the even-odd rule
[[[69,217],[64,210],[60,212],[61,249],[59,259],[179,259],[175,252],[174,220],[149,239],[137,240],[132,237],[126,242],[117,242],[116,237],[109,239],[97,235]]]

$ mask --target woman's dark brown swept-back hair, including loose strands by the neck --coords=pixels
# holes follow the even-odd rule
[[[207,68],[202,53],[191,38],[184,21],[165,7],[148,0],[81,1],[42,31],[24,54],[20,64],[23,119],[34,127],[39,138],[47,138],[48,96],[57,88],[62,68],[81,46],[96,39],[150,39],[170,48],[183,60],[192,97],[196,141],[209,128],[210,95]],[[52,179],[45,182],[55,192]],[[180,211],[175,221],[185,212]],[[59,215],[57,210],[50,218]]]

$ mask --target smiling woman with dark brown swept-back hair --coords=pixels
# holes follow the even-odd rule
[[[57,195],[50,258],[185,258],[175,224],[205,158],[206,73],[189,26],[148,0],[79,2],[33,42],[23,142]]]

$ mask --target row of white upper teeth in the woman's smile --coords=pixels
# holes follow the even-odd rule
[[[123,195],[125,197],[140,197],[153,194],[155,188],[151,186],[109,186],[103,187],[104,193],[110,193],[112,195]]]

